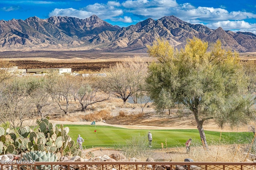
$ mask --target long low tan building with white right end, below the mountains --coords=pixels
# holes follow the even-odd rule
[[[71,74],[71,68],[28,68],[27,74],[44,74],[49,72],[58,72],[58,74]]]

